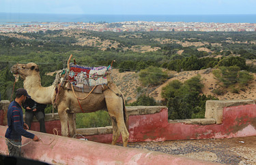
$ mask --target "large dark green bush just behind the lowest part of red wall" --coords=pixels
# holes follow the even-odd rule
[[[205,101],[217,98],[200,95],[202,87],[201,77],[197,75],[184,83],[173,80],[162,88],[161,95],[167,101],[168,118],[184,120],[204,117]]]

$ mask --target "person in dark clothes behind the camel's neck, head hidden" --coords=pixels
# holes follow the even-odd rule
[[[46,105],[36,103],[32,98],[27,98],[23,104],[25,111],[25,122],[31,128],[31,122],[33,121],[33,116],[35,115],[36,119],[40,123],[40,132],[46,132],[44,125],[44,109]]]

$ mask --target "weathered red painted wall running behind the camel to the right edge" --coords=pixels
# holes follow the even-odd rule
[[[61,134],[58,120],[46,122],[46,132],[53,134],[57,128]],[[39,131],[39,123],[31,125],[31,130]],[[195,125],[169,123],[168,109],[160,113],[129,116],[129,142],[170,141],[182,139],[222,139],[256,135],[256,105],[240,105],[223,109],[223,124]],[[112,134],[85,136],[89,141],[111,143]],[[119,137],[122,141],[122,137]]]

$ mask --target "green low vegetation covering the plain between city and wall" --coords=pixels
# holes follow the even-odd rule
[[[253,80],[250,72],[256,73],[253,62],[246,65],[246,60],[256,58],[255,32],[113,33],[61,30],[18,33],[17,36],[23,37],[0,33],[1,100],[12,100],[13,90],[23,87],[21,80],[14,86],[14,76],[10,73],[10,67],[16,62],[37,63],[42,86],[50,86],[55,77],[45,73],[66,67],[70,54],[75,56],[79,65],[109,66],[115,60],[113,68],[119,69],[120,73],[135,71],[143,86],[134,91],[139,96],[130,106],[166,105],[171,120],[204,117],[205,100],[217,98],[201,93],[203,84],[201,78],[196,76],[184,83],[171,81],[162,90],[165,101],[156,103],[144,89],[152,90],[171,78],[164,69],[181,72],[217,68],[214,76],[219,86],[212,92],[218,95],[245,91]],[[97,44],[87,43],[87,39],[96,38]],[[157,49],[154,52],[140,50],[144,46]],[[49,105],[46,113],[51,111],[52,106]],[[110,125],[105,111],[78,114],[76,122],[78,128]]]

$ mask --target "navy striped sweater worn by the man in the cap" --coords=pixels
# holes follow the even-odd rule
[[[14,100],[10,103],[7,112],[8,128],[5,137],[13,140],[21,140],[21,136],[33,139],[35,136],[23,128],[23,109]]]

